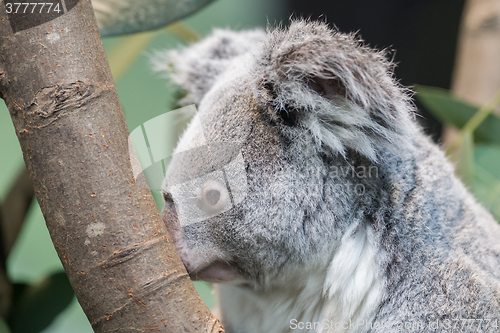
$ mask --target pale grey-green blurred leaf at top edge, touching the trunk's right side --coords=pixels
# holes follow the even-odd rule
[[[102,36],[158,29],[213,0],[92,0]]]

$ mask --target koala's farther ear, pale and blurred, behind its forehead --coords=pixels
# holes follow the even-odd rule
[[[186,93],[180,104],[198,104],[235,58],[255,51],[264,41],[263,30],[235,32],[216,29],[200,42],[157,54],[153,66]]]

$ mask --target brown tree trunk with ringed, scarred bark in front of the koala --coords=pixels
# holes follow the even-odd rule
[[[38,14],[37,7],[32,14],[29,7],[8,14],[13,2],[0,1],[0,97],[94,331],[223,332],[189,280],[147,185],[133,177],[128,130],[90,0],[54,0],[61,13]]]

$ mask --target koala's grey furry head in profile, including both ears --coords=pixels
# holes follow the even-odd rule
[[[258,288],[325,266],[380,181],[333,167],[381,165],[417,131],[385,55],[324,23],[218,30],[161,67],[198,104],[162,186],[193,278]]]

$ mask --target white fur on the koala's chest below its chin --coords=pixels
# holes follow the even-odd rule
[[[383,294],[371,229],[347,232],[328,267],[267,292],[219,285],[223,322],[234,333],[366,332]],[[232,332],[232,331],[231,331]]]

